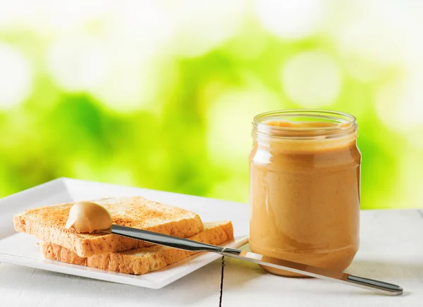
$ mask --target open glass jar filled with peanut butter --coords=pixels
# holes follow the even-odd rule
[[[345,270],[359,245],[361,155],[355,117],[319,110],[268,112],[255,116],[252,139],[251,250]]]

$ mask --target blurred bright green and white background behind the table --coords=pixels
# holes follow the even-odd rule
[[[247,202],[252,117],[357,116],[362,207],[421,207],[419,1],[0,1],[0,196],[68,176]]]

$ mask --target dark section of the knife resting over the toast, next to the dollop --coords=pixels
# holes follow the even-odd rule
[[[207,243],[178,238],[176,236],[168,236],[167,234],[158,234],[152,231],[135,229],[116,224],[112,225],[111,233],[118,234],[120,236],[128,236],[133,239],[153,244],[183,249],[185,251],[209,251],[212,253],[221,253],[223,251],[223,248],[220,246],[214,246]]]

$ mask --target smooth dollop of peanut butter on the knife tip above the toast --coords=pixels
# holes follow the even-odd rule
[[[69,211],[66,228],[73,228],[79,233],[109,229],[111,228],[111,215],[97,203],[75,203]]]

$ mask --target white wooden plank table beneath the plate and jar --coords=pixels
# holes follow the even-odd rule
[[[348,272],[399,284],[404,294],[277,277],[226,258],[222,306],[423,306],[423,213],[362,211],[360,251]],[[159,290],[0,263],[0,306],[219,306],[220,279],[220,260]]]

